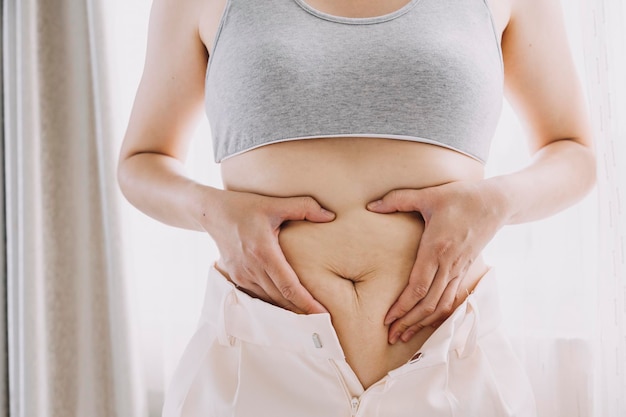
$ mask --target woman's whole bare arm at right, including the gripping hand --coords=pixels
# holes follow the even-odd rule
[[[595,182],[590,124],[559,0],[510,1],[505,93],[528,133],[532,162],[478,182],[394,190],[368,205],[379,213],[417,211],[425,221],[409,283],[385,319],[390,343],[449,316],[465,272],[502,226],[550,216]]]

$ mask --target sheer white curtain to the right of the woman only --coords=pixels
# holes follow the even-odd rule
[[[557,216],[503,231],[490,254],[501,276],[506,324],[535,387],[540,415],[621,417],[626,15],[621,0],[562,4],[594,124],[598,186]],[[519,133],[509,117],[505,113],[492,152],[494,172],[515,167],[512,155],[521,151],[511,142]]]

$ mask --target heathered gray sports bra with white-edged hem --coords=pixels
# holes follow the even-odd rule
[[[227,0],[206,76],[216,162],[270,143],[378,137],[485,162],[502,105],[486,0],[410,0],[383,16],[305,0]]]

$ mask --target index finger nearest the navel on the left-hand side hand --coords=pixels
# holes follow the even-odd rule
[[[278,245],[272,248],[271,257],[268,261],[265,270],[274,287],[278,290],[281,300],[292,303],[306,314],[328,312],[300,283]]]

